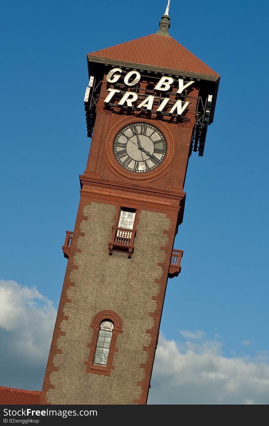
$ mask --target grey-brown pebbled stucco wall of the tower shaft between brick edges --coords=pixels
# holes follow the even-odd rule
[[[142,210],[137,224],[132,259],[125,253],[108,254],[108,242],[114,225],[116,207],[92,202],[83,209],[80,230],[85,236],[77,242],[81,253],[74,256],[74,269],[70,279],[75,283],[67,296],[61,329],[65,336],[58,339],[62,354],[54,357],[50,381],[55,389],[47,392],[52,404],[132,404],[141,395],[137,381],[143,380],[141,363],[147,360],[143,346],[149,345],[153,319],[149,312],[156,310],[152,295],[159,293],[165,253],[160,250],[168,237],[163,230],[170,227],[170,219],[163,213]],[[123,321],[123,332],[117,336],[110,376],[86,372],[84,362],[89,358],[87,344],[92,341],[90,324],[95,314],[103,310],[116,312]]]

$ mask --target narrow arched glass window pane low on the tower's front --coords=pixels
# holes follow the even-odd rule
[[[106,366],[109,357],[110,343],[112,339],[113,323],[103,321],[100,325],[96,350],[94,354],[94,364]]]

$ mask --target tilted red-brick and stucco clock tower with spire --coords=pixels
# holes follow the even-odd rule
[[[169,5],[168,5],[169,6]],[[168,33],[87,55],[92,138],[40,403],[146,404],[189,157],[219,75]]]

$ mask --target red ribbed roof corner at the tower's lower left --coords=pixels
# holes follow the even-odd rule
[[[40,394],[40,391],[24,391],[0,386],[0,405],[37,405]]]

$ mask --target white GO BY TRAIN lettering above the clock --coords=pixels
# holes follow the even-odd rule
[[[118,81],[120,83],[122,83],[122,80],[125,84],[125,86],[127,87],[132,87],[135,86],[137,83],[140,82],[141,79],[141,75],[140,72],[138,71],[129,71],[125,77],[123,78],[122,76],[122,69],[121,68],[113,68],[111,71],[109,71],[109,73],[106,76],[106,80],[108,83],[112,83],[115,84]],[[163,76],[160,78],[160,80],[157,82],[156,86],[154,87],[155,91],[160,91],[160,92],[168,92],[171,88],[171,86],[174,83],[174,78],[172,77],[166,77]],[[178,78],[178,89],[177,89],[177,94],[182,94],[183,90],[185,90],[187,87],[191,86],[194,83],[194,81],[188,81],[185,82],[183,81],[182,78]],[[118,101],[117,105],[119,106],[124,106],[126,105],[127,107],[131,107],[134,108],[134,104],[137,104],[137,99],[138,99],[138,94],[136,92],[132,92],[127,90],[122,91],[121,89],[117,89],[117,88],[109,88],[108,89],[108,95],[106,96],[106,98],[104,99],[104,103],[105,104],[110,104],[110,103],[114,103],[114,96],[116,93],[120,93],[122,95],[120,101]],[[136,105],[137,109],[146,109],[148,111],[152,111],[153,107],[154,107],[154,100],[155,100],[155,95],[148,95],[146,96],[145,99],[143,99],[142,102],[140,102],[138,105]],[[162,112],[163,109],[166,107],[166,105],[168,104],[168,102],[170,101],[170,97],[165,97],[163,98],[163,101],[161,101],[161,103],[159,104],[159,106],[156,109],[156,112]],[[181,99],[177,99],[174,101],[174,105],[169,109],[169,111],[167,111],[169,114],[177,114],[177,115],[182,115],[183,112],[185,111],[185,109],[188,107],[189,102],[183,102]]]

